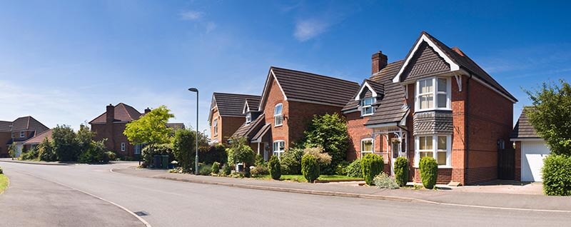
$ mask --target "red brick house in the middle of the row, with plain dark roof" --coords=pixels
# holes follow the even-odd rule
[[[246,136],[264,158],[281,156],[303,137],[314,115],[340,113],[358,89],[355,82],[271,67],[256,112],[258,118]]]

